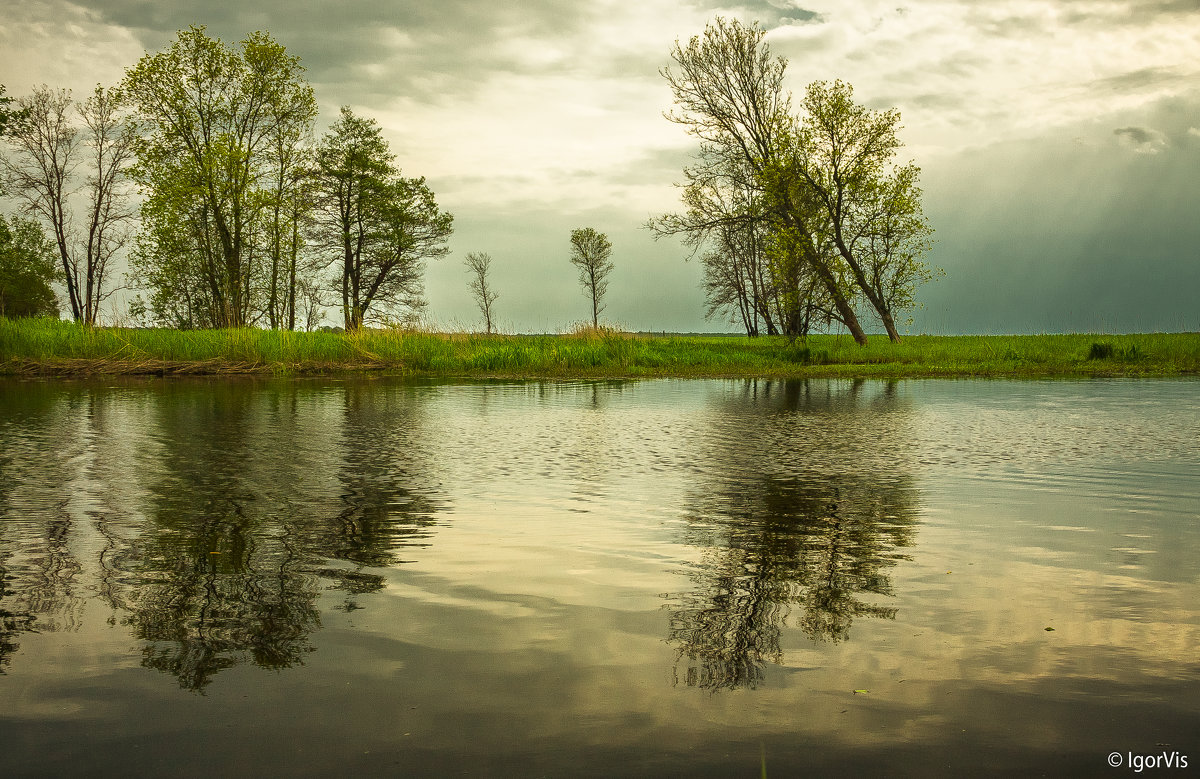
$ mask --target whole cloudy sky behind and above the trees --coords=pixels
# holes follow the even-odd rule
[[[1200,330],[1200,0],[5,0],[0,83],[86,95],[192,24],[265,30],[307,68],[319,130],[374,118],[455,216],[431,322],[478,328],[462,258],[493,258],[502,329],[590,316],[569,236],[613,244],[605,318],[722,331],[701,268],[648,218],[696,142],[662,114],[670,50],[758,22],[787,88],[841,78],[896,108],[946,270],[910,332]],[[878,330],[878,328],[876,328]]]

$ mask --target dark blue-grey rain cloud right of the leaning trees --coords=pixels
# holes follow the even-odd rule
[[[1116,139],[1183,139],[1198,112],[1200,95],[1166,101],[1127,116],[1139,121]],[[1116,154],[1114,136],[1088,124],[926,164],[930,259],[947,276],[922,290],[917,329],[1200,329],[1196,146]]]

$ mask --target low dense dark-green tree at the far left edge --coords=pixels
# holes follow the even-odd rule
[[[0,216],[0,317],[56,317],[54,246],[32,220]]]

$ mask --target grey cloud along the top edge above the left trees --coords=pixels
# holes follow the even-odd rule
[[[512,41],[565,40],[587,29],[595,13],[557,0],[101,0],[89,7],[102,20],[133,30],[150,50],[192,24],[205,25],[227,42],[266,30],[301,58],[310,80],[334,88],[335,102],[389,95],[436,101],[469,94],[491,73],[530,70],[518,56],[520,47],[509,46]]]

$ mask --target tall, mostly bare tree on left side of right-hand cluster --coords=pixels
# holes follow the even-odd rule
[[[677,70],[661,71],[676,97],[666,114],[700,139],[695,164],[684,168],[686,210],[652,220],[656,236],[679,235],[702,256],[708,314],[732,311],[748,335],[806,335],[814,283],[806,263],[769,262],[773,229],[763,199],[762,172],[778,154],[791,97],[784,90],[787,62],[772,58],[764,30],[715,19],[703,36],[676,42]],[[857,324],[852,306],[844,306]]]

